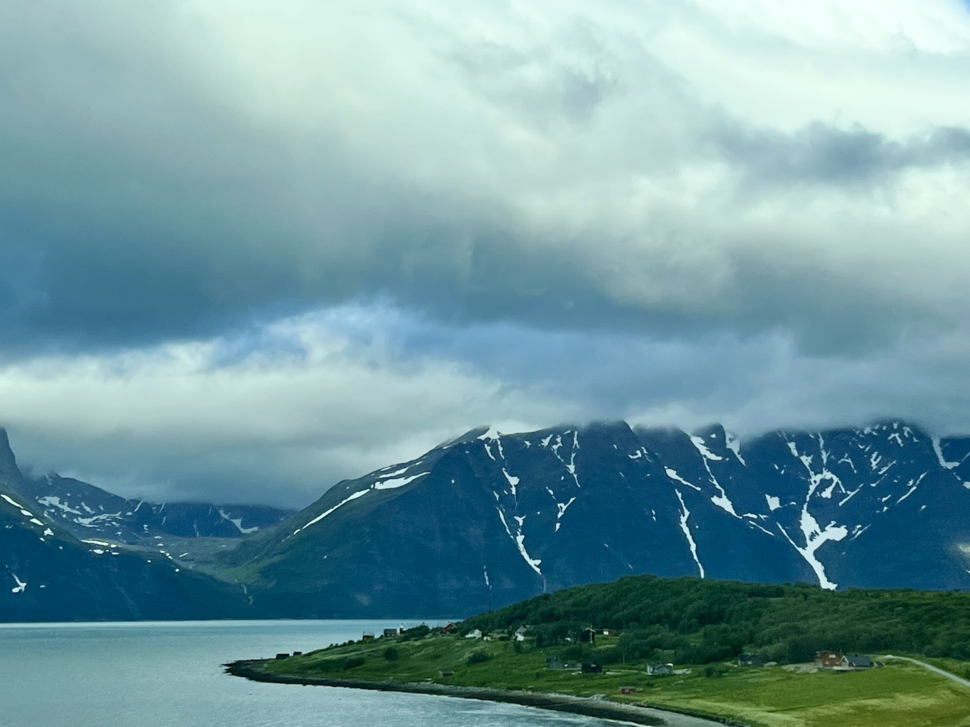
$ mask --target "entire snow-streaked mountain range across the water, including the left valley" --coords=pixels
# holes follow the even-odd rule
[[[285,515],[25,478],[0,430],[0,619],[463,616],[637,573],[968,588],[970,439],[482,427]]]

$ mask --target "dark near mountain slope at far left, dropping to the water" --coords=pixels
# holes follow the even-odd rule
[[[23,495],[0,429],[0,621],[245,617],[241,586],[108,542],[81,542]]]

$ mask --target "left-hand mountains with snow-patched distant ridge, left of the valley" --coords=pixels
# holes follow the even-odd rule
[[[185,547],[189,539],[179,536],[189,528],[209,535],[191,544],[219,549],[243,530],[255,532],[253,522],[286,515],[273,508],[163,507],[53,474],[33,479],[17,467],[0,429],[0,621],[250,616],[242,585],[196,571],[190,553],[177,559],[172,551]]]

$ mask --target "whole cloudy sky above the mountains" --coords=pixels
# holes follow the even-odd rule
[[[303,507],[472,427],[970,433],[961,0],[0,6],[0,426]]]

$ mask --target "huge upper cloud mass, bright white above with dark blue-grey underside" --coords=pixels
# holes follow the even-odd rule
[[[186,287],[202,309],[386,293],[440,315],[624,311],[806,340],[835,325],[823,287],[856,335],[970,312],[953,254],[970,133],[938,131],[970,126],[955,0],[96,7],[113,21],[23,12],[18,37],[64,62],[21,59],[31,82],[0,106],[30,111],[10,112],[22,145],[84,148],[112,174],[68,185],[76,170],[29,164],[9,184],[81,196],[76,215],[48,199],[65,225],[42,236],[50,265],[116,261],[146,326],[190,318]],[[72,62],[87,47],[128,70]],[[61,317],[110,317],[97,284],[49,280]]]

